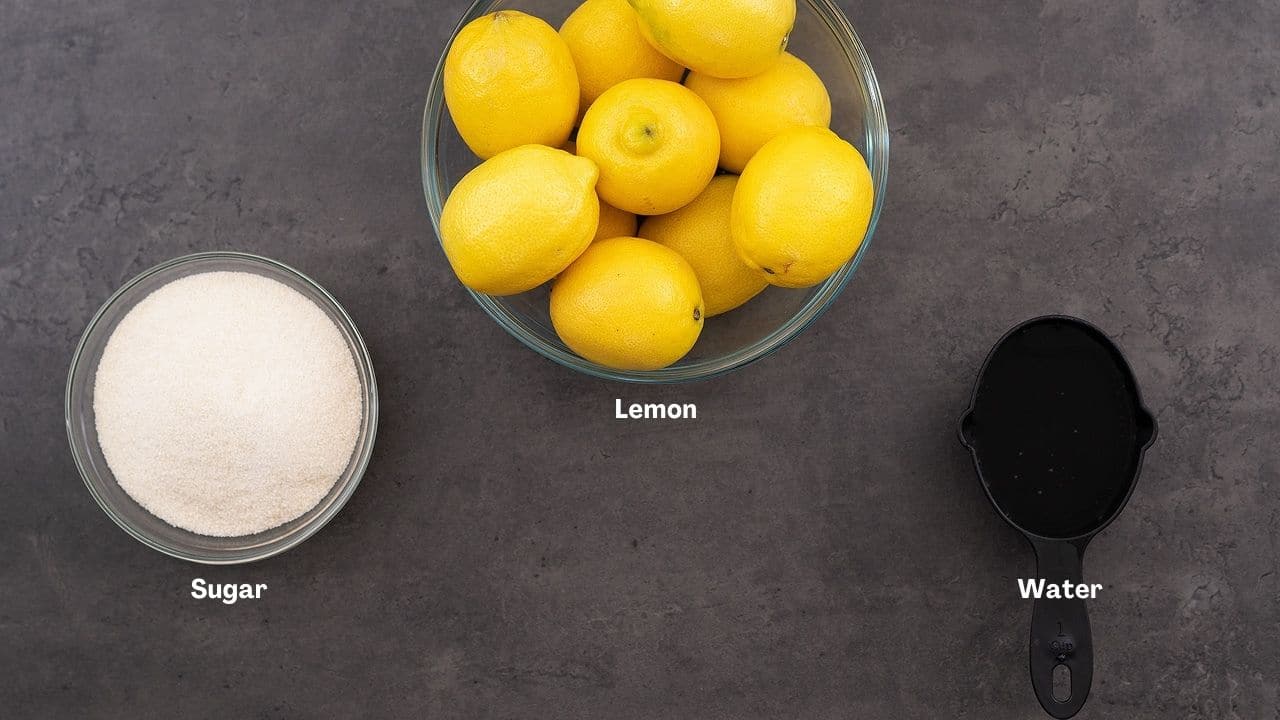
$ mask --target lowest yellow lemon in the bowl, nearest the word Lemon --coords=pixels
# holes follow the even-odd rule
[[[675,250],[637,237],[591,245],[552,286],[552,324],[582,357],[618,370],[657,370],[703,331],[698,275]]]

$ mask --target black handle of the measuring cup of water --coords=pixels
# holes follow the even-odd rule
[[[1064,580],[1073,585],[1083,583],[1083,544],[1061,541],[1033,544],[1038,577],[1046,582],[1046,587],[1061,584]],[[1089,612],[1084,600],[1041,597],[1034,601],[1030,670],[1036,698],[1051,716],[1071,717],[1084,707],[1089,687],[1093,684],[1093,637],[1089,632]],[[1069,674],[1065,682],[1059,683],[1056,694],[1055,673]]]

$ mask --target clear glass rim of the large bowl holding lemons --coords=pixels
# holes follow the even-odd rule
[[[431,225],[435,231],[436,242],[440,242],[440,213],[443,211],[444,195],[443,182],[438,173],[439,158],[435,150],[435,143],[439,138],[440,131],[443,129],[442,119],[447,111],[444,105],[444,59],[448,55],[449,47],[453,45],[453,40],[457,37],[462,27],[488,13],[490,8],[499,1],[500,0],[475,0],[467,12],[463,13],[462,19],[458,20],[453,32],[449,35],[449,40],[445,44],[444,50],[440,53],[440,58],[435,65],[435,72],[431,74],[431,83],[428,88],[426,104],[422,109],[422,136],[419,164],[422,176],[422,192],[426,196],[428,213],[431,217]],[[876,190],[870,222],[867,225],[867,231],[863,233],[863,242],[859,246],[858,252],[841,269],[823,281],[818,286],[818,291],[814,292],[808,301],[805,301],[799,311],[791,315],[791,318],[780,327],[774,328],[773,332],[727,355],[699,360],[687,365],[672,365],[659,370],[616,370],[548,343],[536,331],[530,328],[513,313],[503,307],[502,304],[493,296],[476,292],[465,286],[463,290],[471,295],[476,304],[479,304],[480,307],[483,307],[484,311],[498,323],[498,325],[530,350],[557,363],[558,365],[609,380],[640,384],[664,384],[710,379],[724,375],[772,355],[774,351],[799,337],[800,333],[803,333],[809,325],[820,318],[828,307],[831,307],[836,297],[838,297],[845,290],[845,286],[849,284],[849,281],[854,277],[854,273],[865,258],[867,251],[870,249],[872,237],[876,233],[881,211],[884,206],[884,191],[888,187],[890,149],[888,120],[884,115],[884,102],[881,96],[879,82],[876,78],[876,70],[872,67],[870,56],[867,54],[867,49],[863,45],[861,38],[854,31],[849,17],[844,13],[844,10],[836,6],[832,0],[799,1],[809,5],[819,15],[819,18],[826,22],[827,27],[832,31],[832,35],[838,42],[846,63],[852,69],[854,74],[856,74],[864,83],[864,92],[860,94],[864,100],[863,105],[867,113],[864,117],[864,136],[872,141],[865,160],[870,169],[872,183]]]

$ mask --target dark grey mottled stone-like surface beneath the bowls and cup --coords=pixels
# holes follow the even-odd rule
[[[525,350],[434,242],[462,0],[0,4],[0,715],[1039,717],[1032,556],[954,428],[1000,333],[1065,311],[1162,428],[1089,552],[1082,717],[1280,717],[1280,5],[842,5],[893,131],[876,246],[777,355],[641,389]],[[232,569],[116,529],[63,430],[91,313],[207,249],[328,286],[384,402],[338,519]]]

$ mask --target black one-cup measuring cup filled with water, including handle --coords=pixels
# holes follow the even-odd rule
[[[1084,548],[1129,501],[1156,420],[1111,340],[1084,320],[1051,315],[1015,327],[992,348],[960,439],[992,506],[1036,550],[1037,578],[1079,585]],[[1030,673],[1053,717],[1084,706],[1093,638],[1083,598],[1034,601]]]

